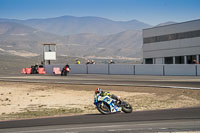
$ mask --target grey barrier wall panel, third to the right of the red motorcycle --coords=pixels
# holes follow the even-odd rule
[[[109,64],[109,74],[134,75],[134,65],[130,65],[130,64]]]

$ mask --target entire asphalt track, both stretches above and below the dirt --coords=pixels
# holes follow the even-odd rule
[[[1,76],[2,81],[45,82],[64,84],[99,84],[155,86],[200,89],[200,77],[193,76],[130,76],[130,75],[70,75],[61,76]],[[173,110],[134,112],[131,114],[88,114],[80,116],[1,121],[2,133],[68,133],[68,132],[200,132],[200,107]]]

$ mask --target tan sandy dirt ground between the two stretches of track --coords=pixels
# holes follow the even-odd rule
[[[134,111],[200,106],[200,90],[0,82],[0,120],[98,113],[97,87],[128,101]]]

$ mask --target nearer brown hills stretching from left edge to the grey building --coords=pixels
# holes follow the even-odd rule
[[[56,43],[58,55],[141,57],[142,32],[128,30],[107,36],[92,33],[59,36],[15,22],[0,22],[0,53],[42,54],[43,43]]]

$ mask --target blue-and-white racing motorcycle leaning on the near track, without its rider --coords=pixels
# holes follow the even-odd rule
[[[102,114],[111,114],[123,111],[124,113],[131,113],[132,106],[123,100],[118,102],[109,96],[100,96],[99,94],[94,96],[94,104],[97,110]]]

